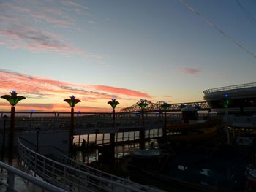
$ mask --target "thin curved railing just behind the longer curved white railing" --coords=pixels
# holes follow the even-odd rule
[[[58,158],[59,162],[61,162],[63,164],[67,164],[69,166],[73,166],[76,169],[79,169],[83,172],[88,172],[90,174],[97,175],[98,177],[103,177],[105,179],[112,180],[113,182],[123,183],[124,185],[132,186],[134,188],[138,188],[138,189],[143,188],[143,191],[151,191],[151,192],[161,191],[159,189],[151,188],[151,187],[148,187],[146,185],[140,185],[138,183],[132,182],[131,180],[126,180],[122,177],[118,177],[116,175],[109,174],[107,172],[102,172],[99,169],[94,169],[91,166],[88,166],[86,164],[82,164],[79,161],[75,161],[74,159],[67,157],[67,155],[64,155],[63,153],[61,153],[61,151],[59,151],[58,148],[54,147],[54,149],[59,154],[59,158]]]

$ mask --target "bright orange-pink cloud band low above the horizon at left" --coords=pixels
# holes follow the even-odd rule
[[[27,99],[56,98],[62,101],[62,99],[66,99],[68,96],[75,95],[83,102],[96,103],[99,99],[109,100],[112,97],[125,101],[135,101],[138,100],[138,97],[151,97],[148,93],[127,88],[61,82],[1,69],[0,85],[1,95],[8,94],[10,91],[15,90],[21,95],[26,96]]]

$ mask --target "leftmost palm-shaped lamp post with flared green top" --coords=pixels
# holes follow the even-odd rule
[[[13,137],[15,128],[15,105],[18,101],[26,99],[24,96],[17,96],[16,91],[10,92],[10,95],[1,96],[2,99],[6,99],[11,104],[11,120],[10,120],[10,135],[9,135],[9,163],[12,164],[12,152],[13,152]]]

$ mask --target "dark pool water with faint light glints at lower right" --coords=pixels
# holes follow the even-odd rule
[[[173,161],[165,170],[169,177],[197,185],[206,185],[227,191],[241,191],[246,186],[246,165],[249,160],[239,153],[220,153],[211,157],[198,158],[200,154],[182,154],[183,162]],[[198,161],[189,161],[189,156]],[[187,160],[186,160],[187,159]],[[175,165],[176,164],[176,165]]]

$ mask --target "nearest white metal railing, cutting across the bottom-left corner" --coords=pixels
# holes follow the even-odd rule
[[[50,183],[47,183],[45,181],[39,180],[36,177],[33,177],[30,174],[22,172],[19,169],[16,169],[8,164],[4,164],[1,161],[0,161],[0,167],[1,169],[5,169],[7,171],[6,183],[4,183],[4,180],[0,180],[0,183],[7,188],[7,191],[17,191],[15,190],[15,176],[18,176],[18,177],[21,177],[23,180],[29,181],[34,185],[37,185],[38,187],[45,189],[47,191],[65,192],[65,190],[61,188],[51,185]]]

